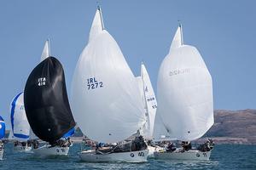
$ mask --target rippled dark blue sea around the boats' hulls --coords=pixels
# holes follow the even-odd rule
[[[145,163],[87,163],[79,161],[80,144],[73,144],[69,156],[38,158],[33,154],[14,153],[13,144],[5,145],[0,169],[247,169],[256,170],[256,145],[217,144],[210,161],[160,161]]]

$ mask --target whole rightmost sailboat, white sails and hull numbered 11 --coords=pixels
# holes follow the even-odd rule
[[[158,109],[154,123],[155,140],[189,143],[201,138],[213,125],[212,77],[198,50],[183,44],[178,26],[169,54],[160,65],[157,82]],[[184,148],[156,151],[157,159],[209,160],[207,150]]]

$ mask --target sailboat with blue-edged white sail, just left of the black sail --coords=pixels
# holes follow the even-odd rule
[[[14,140],[16,151],[30,151],[32,144],[28,141],[30,126],[26,119],[23,93],[15,96],[10,106],[11,130],[9,140]]]

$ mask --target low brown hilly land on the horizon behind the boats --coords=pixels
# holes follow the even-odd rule
[[[6,138],[9,130],[6,132]],[[195,143],[203,143],[211,138],[215,144],[256,144],[256,110],[214,111],[214,125]],[[73,140],[81,142],[83,133],[77,128]]]

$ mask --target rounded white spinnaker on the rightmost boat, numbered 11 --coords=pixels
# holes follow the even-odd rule
[[[157,90],[157,114],[171,139],[198,139],[212,127],[212,77],[196,48],[171,48],[160,66]]]

